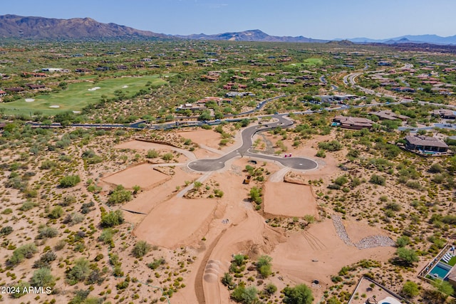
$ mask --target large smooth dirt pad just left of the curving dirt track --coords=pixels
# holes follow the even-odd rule
[[[152,209],[133,234],[166,248],[187,246],[202,239],[216,207],[214,199],[172,198]]]

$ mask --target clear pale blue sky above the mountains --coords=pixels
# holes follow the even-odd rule
[[[8,0],[0,14],[90,17],[156,33],[261,29],[275,36],[456,35],[455,0]]]

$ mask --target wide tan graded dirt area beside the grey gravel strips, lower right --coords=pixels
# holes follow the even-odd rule
[[[353,222],[353,225],[358,223]],[[359,236],[353,236],[359,239]],[[320,281],[323,288],[314,289],[314,296],[323,293],[324,288],[331,285],[331,276],[362,259],[370,258],[385,262],[393,256],[394,247],[376,247],[360,250],[355,246],[347,246],[336,234],[331,219],[312,224],[309,230],[291,233],[286,243],[279,243],[270,254],[273,268],[280,271],[296,283],[311,285],[313,280]]]

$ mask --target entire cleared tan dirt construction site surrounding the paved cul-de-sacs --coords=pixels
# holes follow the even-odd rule
[[[218,133],[192,130],[179,135],[190,138],[199,148],[184,152],[151,142],[123,142],[115,149],[175,151],[179,156],[175,162],[140,164],[103,178],[103,182],[113,185],[140,185],[142,191],[121,207],[126,219],[135,223],[132,236],[163,248],[168,255],[170,251],[191,252],[194,263],[191,271],[184,273],[186,287],[173,295],[172,303],[230,303],[229,291],[220,279],[228,271],[234,254],[242,253],[252,260],[262,254],[271,256],[274,276],[265,281],[279,288],[304,282],[312,286],[316,299],[323,296],[323,290],[331,284],[331,276],[341,267],[361,259],[383,263],[393,255],[392,246],[359,249],[347,245],[336,233],[331,215],[321,213],[315,190],[307,181],[317,177],[331,179],[337,171],[332,157],[319,159],[318,168],[309,172],[293,172],[258,160],[254,167],[266,172],[266,181],[243,184],[247,175],[244,167],[252,165],[249,159],[233,159],[219,172],[204,174],[193,172],[185,165],[189,159],[219,156],[220,153],[214,152],[219,150]],[[274,142],[274,137],[266,136]],[[318,140],[321,138],[315,141]],[[234,142],[233,147],[236,145]],[[313,157],[312,145],[310,142],[294,154]],[[230,147],[224,147],[223,151],[229,150]],[[157,171],[165,166],[172,166],[172,173]],[[279,180],[274,179],[278,172],[283,172]],[[289,182],[284,182],[284,174]],[[273,180],[268,181],[269,177]],[[202,180],[201,185],[191,189],[197,180]],[[254,210],[254,203],[247,199],[253,186],[264,188],[264,207],[260,210]],[[222,191],[223,196],[213,196],[214,189]],[[315,220],[306,223],[306,229],[286,228],[286,221],[306,215]],[[267,218],[274,218],[279,225],[267,224]],[[388,236],[385,231],[358,221],[344,220],[343,225],[353,243],[368,236]],[[314,280],[319,284],[313,284]]]

